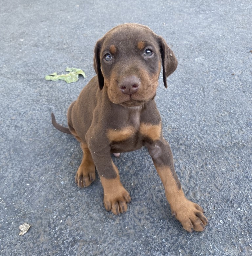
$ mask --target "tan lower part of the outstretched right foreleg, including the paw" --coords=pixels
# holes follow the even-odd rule
[[[188,232],[203,231],[204,226],[208,223],[203,209],[198,204],[189,201],[184,196],[182,189],[178,189],[169,167],[156,167],[156,169],[164,185],[165,195],[171,206],[172,214]]]

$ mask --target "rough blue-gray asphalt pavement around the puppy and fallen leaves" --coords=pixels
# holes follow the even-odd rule
[[[250,1],[0,3],[0,255],[252,255]],[[51,124],[95,75],[93,49],[136,22],[163,36],[178,69],[156,97],[186,196],[209,224],[191,234],[171,216],[145,148],[114,159],[132,202],[114,216],[98,176],[79,189],[75,139]],[[87,78],[44,80],[66,67]],[[19,225],[31,224],[19,236]]]

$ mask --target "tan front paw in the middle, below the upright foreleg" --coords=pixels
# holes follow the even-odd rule
[[[130,200],[130,194],[123,186],[118,189],[112,189],[111,192],[104,192],[103,203],[105,209],[112,211],[115,215],[126,212]]]

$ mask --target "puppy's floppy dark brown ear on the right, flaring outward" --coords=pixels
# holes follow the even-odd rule
[[[163,81],[165,88],[167,88],[166,78],[176,70],[178,61],[162,37],[158,37],[158,43],[163,65]]]

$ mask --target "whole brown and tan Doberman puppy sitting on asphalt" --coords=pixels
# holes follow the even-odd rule
[[[202,208],[189,201],[174,170],[173,155],[162,134],[155,95],[158,77],[163,83],[177,68],[177,59],[165,40],[146,26],[119,25],[95,45],[96,76],[80,92],[68,110],[68,128],[80,142],[83,159],[75,181],[87,187],[95,180],[95,167],[104,190],[104,206],[114,214],[127,210],[131,198],[122,186],[111,153],[148,148],[172,214],[184,229],[202,231],[207,224]]]

